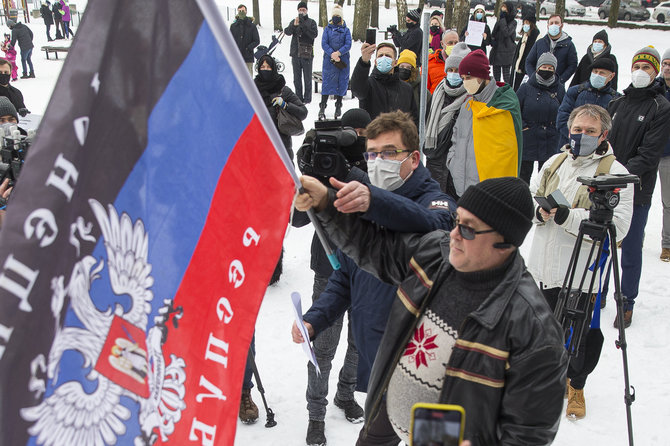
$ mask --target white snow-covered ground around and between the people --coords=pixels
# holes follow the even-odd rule
[[[226,8],[234,11],[240,0],[218,0],[224,18]],[[81,3],[81,4],[80,4]],[[251,13],[251,1],[246,2]],[[272,35],[272,2],[261,0],[261,19],[264,25],[260,28],[261,43],[268,45]],[[284,25],[295,17],[297,0],[284,0],[282,18]],[[331,1],[328,2],[332,4]],[[383,1],[380,2],[383,5]],[[393,2],[394,3],[394,2]],[[392,3],[392,4],[393,4]],[[85,2],[78,2],[82,9]],[[318,2],[308,2],[312,17],[318,13]],[[417,2],[410,2],[416,7]],[[344,7],[346,22],[353,23],[353,6]],[[380,29],[396,22],[395,9],[380,10]],[[489,18],[493,27],[495,20]],[[37,114],[46,110],[49,97],[54,88],[62,67],[61,60],[47,60],[39,48],[46,44],[44,25],[40,19],[33,19],[29,26],[35,34],[35,51],[33,63],[36,79],[19,80],[14,85],[25,97],[28,109]],[[604,27],[604,26],[603,26]],[[564,30],[570,34],[581,57],[590,44],[593,35],[603,27],[586,25],[566,25]],[[540,22],[542,35],[546,33],[546,22]],[[317,43],[321,39],[321,29]],[[5,32],[8,30],[5,28]],[[53,32],[53,30],[52,30]],[[76,32],[76,28],[75,28]],[[620,86],[630,82],[630,60],[639,48],[652,44],[659,52],[670,47],[670,33],[654,30],[608,30],[613,53],[617,56]],[[61,42],[61,41],[59,41]],[[667,45],[667,46],[666,46]],[[351,50],[352,65],[360,56],[360,42],[355,42]],[[286,63],[284,76],[287,85],[293,87],[293,76],[288,57],[290,37],[279,45],[274,56]],[[320,45],[315,46],[316,57],[314,70],[320,70],[323,52]],[[63,86],[63,88],[67,88]],[[306,127],[316,119],[319,95],[314,95],[308,105],[309,115]],[[357,100],[347,97],[344,109],[358,106]],[[58,108],[57,104],[54,104]],[[333,102],[329,104],[328,113],[332,116]],[[670,124],[670,123],[669,123]],[[301,137],[295,137],[293,144],[298,147]],[[636,305],[633,325],[627,330],[629,345],[628,358],[631,383],[635,386],[637,399],[632,406],[635,441],[638,445],[667,445],[670,441],[662,427],[663,420],[670,419],[670,264],[659,260],[661,233],[661,202],[659,188],[653,199],[652,209],[647,224],[647,243],[644,248],[644,266],[640,283],[640,296]],[[260,395],[253,392],[254,400],[261,408],[261,419],[254,425],[238,425],[238,445],[300,445],[304,444],[307,429],[307,411],[305,408],[305,389],[307,381],[306,359],[300,346],[293,344],[290,327],[293,321],[290,307],[290,293],[298,291],[303,295],[303,308],[310,305],[312,290],[312,272],[309,269],[309,248],[312,238],[310,227],[291,229],[284,243],[284,275],[279,284],[268,289],[256,324],[257,361],[261,378],[266,390],[270,407],[276,413],[277,426],[271,429],[264,427],[264,411]],[[530,249],[532,234],[522,246],[524,254]],[[614,347],[617,336],[612,328],[615,308],[610,302],[603,312],[602,326],[605,335],[605,346],[596,371],[589,378],[586,387],[587,416],[585,419],[570,422],[562,420],[554,444],[574,445],[624,445],[627,444],[627,427],[623,400],[623,372],[621,353]],[[343,349],[339,349],[335,359],[331,388],[336,385],[337,371],[343,361]],[[363,404],[364,394],[356,395]],[[331,392],[332,398],[332,392]],[[348,423],[343,413],[329,406],[326,416],[326,436],[328,444],[333,446],[351,445],[355,442],[361,425]]]

